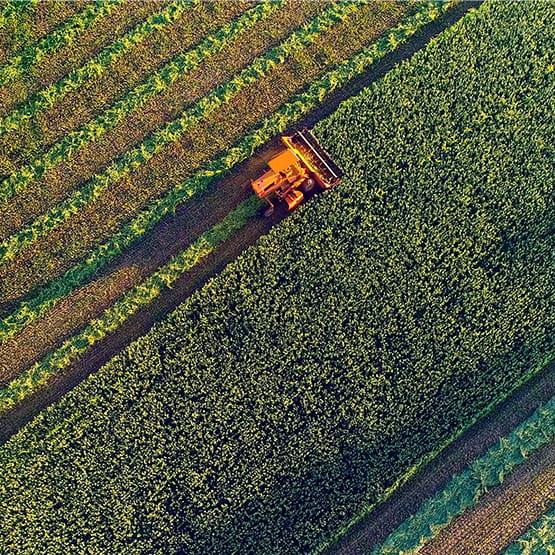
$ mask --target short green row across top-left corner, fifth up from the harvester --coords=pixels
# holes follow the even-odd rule
[[[41,62],[62,46],[75,42],[80,33],[112,12],[117,5],[118,2],[97,0],[46,37],[27,46],[20,55],[0,66],[0,85],[17,81],[32,65]]]

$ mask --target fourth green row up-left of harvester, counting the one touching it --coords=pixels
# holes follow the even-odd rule
[[[124,56],[132,46],[145,40],[149,34],[167,25],[171,25],[183,15],[192,3],[184,1],[172,2],[166,5],[163,10],[151,15],[146,21],[139,23],[131,31],[108,45],[80,68],[73,70],[56,83],[33,95],[22,107],[15,109],[0,119],[0,136],[18,129],[24,120],[30,119],[39,111],[54,106],[66,94],[98,78],[110,65]],[[106,5],[112,9],[115,4],[109,3]],[[88,7],[86,11],[90,12],[95,9],[99,9],[96,4]],[[81,17],[83,13],[77,14],[74,18]],[[68,25],[72,27],[70,22],[68,22]]]

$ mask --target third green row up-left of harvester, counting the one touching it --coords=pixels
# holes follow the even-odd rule
[[[180,4],[180,6],[182,6]],[[229,44],[238,33],[255,25],[264,17],[269,16],[279,8],[277,2],[263,2],[250,9],[236,20],[227,23],[208,35],[202,42],[183,54],[177,55],[163,68],[152,74],[144,83],[138,85],[123,99],[116,102],[98,118],[90,121],[78,131],[66,135],[61,141],[53,145],[40,158],[31,164],[19,168],[9,178],[0,183],[0,202],[19,193],[33,179],[42,176],[56,164],[68,160],[85,145],[100,138],[111,128],[121,122],[132,111],[137,110],[157,94],[164,92],[178,78],[193,71],[207,56],[211,56]],[[166,8],[169,10],[171,6]],[[175,10],[172,10],[172,17]],[[153,16],[158,22],[162,16]],[[149,23],[149,22],[147,22]],[[146,24],[141,27],[146,28]],[[149,23],[149,28],[152,24]],[[143,36],[144,33],[141,34]],[[133,39],[134,40],[134,39]],[[118,52],[120,52],[118,50]]]

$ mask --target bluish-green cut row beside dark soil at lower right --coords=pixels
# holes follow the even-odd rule
[[[454,476],[447,486],[372,550],[372,555],[417,552],[451,520],[478,504],[489,488],[503,482],[518,465],[555,439],[555,398],[537,409],[482,457]]]

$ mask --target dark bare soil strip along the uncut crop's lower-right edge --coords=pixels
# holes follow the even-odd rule
[[[529,418],[539,406],[546,403],[554,395],[555,361],[544,367],[532,379],[513,392],[494,411],[479,420],[448,445],[386,501],[357,522],[336,544],[330,546],[326,550],[326,554],[362,555],[383,542],[393,530],[414,514],[426,499],[444,489],[453,475],[462,472],[474,459],[483,456],[497,440],[511,433],[519,424]],[[545,459],[545,465],[543,466],[542,459]],[[527,471],[530,474],[526,474]],[[499,486],[497,490],[492,490],[492,492],[501,491],[505,486],[509,486],[513,479],[518,482],[518,477],[522,476],[521,473],[524,473],[525,476],[532,476],[531,479],[533,480],[534,472],[545,473],[542,475],[543,479],[546,480],[551,477],[551,484],[555,484],[555,444],[550,444],[538,450],[530,457],[529,461],[514,472],[514,478],[513,476],[507,477],[506,482]],[[521,479],[526,480],[526,478]],[[526,485],[529,483],[530,481],[523,482]],[[548,497],[549,494],[545,492],[547,485],[549,485],[549,482],[543,484],[543,493],[540,492],[540,497]],[[553,491],[551,495],[553,495]],[[489,499],[489,496],[490,493],[486,494],[483,498],[484,501]],[[537,496],[530,498],[529,501],[533,503],[534,499],[537,499]],[[507,503],[510,504],[508,498]],[[501,547],[505,547],[512,539],[518,537],[520,535],[519,531],[523,532],[527,525],[537,519],[544,510],[545,507],[543,507],[543,510],[536,508],[536,512],[530,509],[529,518],[526,519],[526,522],[522,523],[519,530],[516,529],[516,526],[513,526],[514,531],[511,532],[510,537]],[[497,525],[499,526],[499,521],[497,521]],[[430,542],[431,545],[432,542]],[[443,554],[451,552],[440,550],[427,553]],[[470,550],[467,552],[456,551],[456,553],[480,553],[482,555],[484,552]]]

